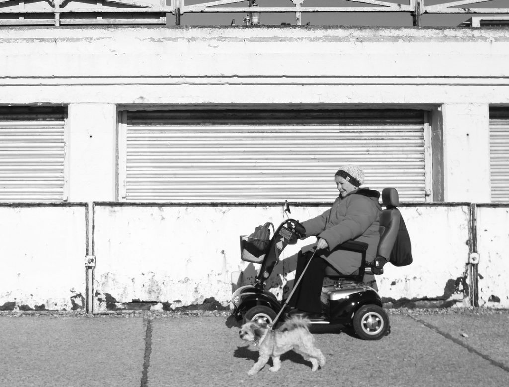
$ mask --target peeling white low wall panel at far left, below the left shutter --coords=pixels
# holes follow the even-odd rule
[[[86,296],[85,207],[0,207],[0,218],[0,306],[70,310]]]

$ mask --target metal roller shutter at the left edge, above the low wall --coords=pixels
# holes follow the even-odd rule
[[[64,111],[0,110],[0,201],[64,200]]]

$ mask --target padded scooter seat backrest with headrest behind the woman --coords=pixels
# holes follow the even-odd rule
[[[377,256],[383,256],[389,261],[390,252],[394,246],[400,228],[401,213],[396,207],[400,204],[398,190],[387,187],[382,190],[382,204],[386,206],[380,214],[380,242]]]

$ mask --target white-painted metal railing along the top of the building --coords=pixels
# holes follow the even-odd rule
[[[184,14],[245,13],[247,25],[260,24],[262,13],[294,13],[295,24],[301,25],[303,13],[406,13],[415,26],[421,25],[425,14],[505,14],[509,8],[462,8],[492,0],[461,0],[437,5],[425,5],[425,0],[407,0],[408,4],[379,0],[337,0],[338,6],[306,7],[305,0],[288,0],[287,7],[270,7],[270,0],[216,0],[186,5],[185,0],[38,0],[25,5],[25,0],[0,0],[0,25],[66,25],[66,24],[166,24],[168,15],[181,24]],[[345,6],[345,2],[348,4]],[[507,0],[509,3],[509,0]],[[361,3],[364,6],[359,6]],[[239,6],[239,4],[242,4]],[[330,2],[328,2],[330,5]],[[341,4],[341,6],[340,6]],[[351,6],[350,6],[351,5]]]

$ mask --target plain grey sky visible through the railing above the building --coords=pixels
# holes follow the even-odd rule
[[[386,0],[390,3],[409,4],[409,0]],[[423,0],[426,5],[451,3],[453,0]],[[207,0],[185,0],[186,5],[210,3]],[[257,0],[260,7],[293,7],[290,0]],[[171,4],[168,0],[168,4]],[[233,4],[224,7],[247,7],[247,0],[237,5]],[[368,5],[360,3],[351,3],[343,0],[304,0],[303,7],[367,7]],[[468,6],[463,6],[468,8]],[[487,3],[476,4],[470,8],[506,8],[509,9],[509,0],[493,0]],[[422,15],[422,26],[426,27],[455,27],[461,22],[470,19],[468,14],[456,15]],[[506,16],[506,15],[504,15]],[[227,14],[183,14],[181,25],[231,25],[232,19],[235,19],[237,25],[243,25],[245,13],[227,13]],[[175,18],[168,17],[167,25],[175,25]],[[295,25],[295,13],[274,13],[261,14],[260,22],[263,25],[280,25],[281,23],[290,23]],[[302,25],[309,22],[311,25],[343,25],[343,26],[388,26],[405,27],[412,26],[412,16],[408,13],[303,13]]]

